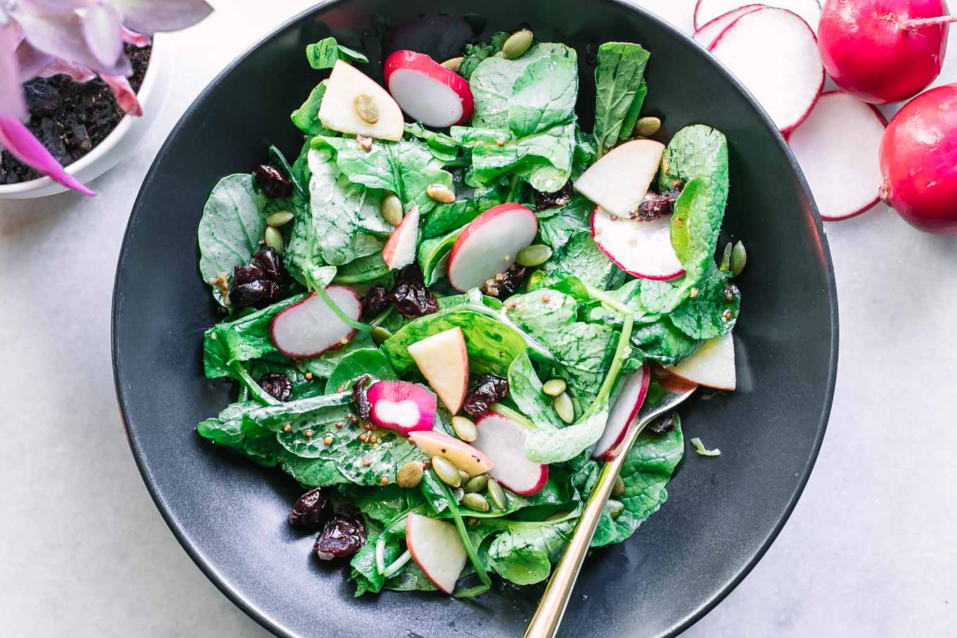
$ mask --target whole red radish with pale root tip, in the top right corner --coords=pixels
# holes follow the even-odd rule
[[[827,0],[817,46],[840,88],[872,104],[908,99],[941,73],[945,0]]]

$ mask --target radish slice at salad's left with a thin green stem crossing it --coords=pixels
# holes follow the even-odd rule
[[[347,317],[362,317],[359,296],[342,286],[328,286],[326,295]],[[318,357],[348,343],[355,328],[339,319],[336,312],[315,293],[280,312],[269,325],[269,336],[276,349],[287,357]]]

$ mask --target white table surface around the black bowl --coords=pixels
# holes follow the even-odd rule
[[[223,66],[311,3],[214,4],[175,35],[167,107],[93,184],[99,197],[0,202],[2,635],[267,635],[193,565],[146,494],[110,364],[117,254],[160,144]],[[840,363],[823,450],[765,559],[687,636],[955,635],[957,237],[915,231],[883,206],[827,231]]]

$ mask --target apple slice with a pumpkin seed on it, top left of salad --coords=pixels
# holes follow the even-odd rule
[[[343,60],[336,60],[325,85],[319,120],[323,126],[348,135],[365,135],[377,140],[402,139],[406,122],[402,110],[389,92],[362,71]],[[356,111],[356,99],[370,99],[378,109],[376,121],[363,120]]]

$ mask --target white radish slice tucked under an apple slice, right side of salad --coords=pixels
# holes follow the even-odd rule
[[[596,206],[591,212],[591,238],[629,275],[659,280],[684,275],[671,244],[670,215],[643,222],[609,214]]]

